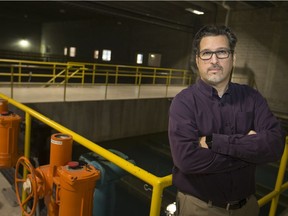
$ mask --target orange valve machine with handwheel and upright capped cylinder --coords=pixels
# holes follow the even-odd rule
[[[92,215],[93,192],[100,172],[91,165],[71,161],[71,158],[72,137],[61,133],[51,137],[50,164],[34,169],[27,158],[19,158],[15,189],[24,215],[34,214],[39,198],[44,198],[49,216]],[[23,178],[18,173],[21,166],[28,172]],[[24,190],[22,197],[21,186]],[[29,202],[32,206],[28,209]]]

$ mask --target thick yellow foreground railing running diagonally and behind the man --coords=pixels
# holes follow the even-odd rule
[[[164,177],[157,177],[149,173],[148,171],[128,162],[127,160],[113,154],[111,151],[108,151],[102,148],[101,146],[86,139],[85,137],[82,137],[81,135],[75,133],[74,131],[68,128],[65,128],[64,126],[58,124],[57,122],[32,110],[31,108],[13,100],[12,98],[9,98],[6,95],[1,94],[1,93],[0,93],[0,98],[7,100],[9,104],[12,104],[18,109],[25,112],[26,127],[25,127],[25,139],[24,139],[24,142],[25,142],[24,143],[24,156],[26,157],[30,156],[31,118],[33,117],[43,122],[44,124],[54,128],[56,131],[59,131],[65,134],[70,134],[73,137],[73,140],[76,141],[77,143],[101,155],[102,157],[106,158],[108,161],[111,161],[112,163],[126,170],[133,176],[151,185],[153,189],[152,189],[152,198],[151,198],[151,205],[150,205],[150,216],[160,215],[163,190],[164,188],[172,185],[171,174],[164,176]],[[288,189],[288,181],[283,183],[284,175],[286,172],[287,159],[288,159],[288,137],[286,137],[285,149],[284,149],[284,153],[282,155],[281,161],[280,161],[280,166],[279,166],[274,190],[258,200],[258,204],[260,207],[266,205],[267,203],[271,201],[269,216],[275,216],[277,206],[278,206],[279,196],[281,193],[283,193],[285,190]]]

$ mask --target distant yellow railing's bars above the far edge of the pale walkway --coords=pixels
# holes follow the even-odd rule
[[[42,62],[0,59],[1,81],[27,84],[165,84],[189,85],[188,70],[81,62]],[[28,82],[28,80],[30,80]]]

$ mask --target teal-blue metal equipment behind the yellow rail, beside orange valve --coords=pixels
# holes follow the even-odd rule
[[[109,151],[135,164],[134,160],[129,159],[122,152],[114,149],[109,149]],[[127,172],[94,152],[81,155],[79,160],[91,164],[100,171],[100,179],[94,190],[93,216],[115,216],[115,183]]]

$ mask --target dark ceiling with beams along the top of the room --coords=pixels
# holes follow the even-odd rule
[[[55,22],[95,19],[104,16],[125,17],[162,25],[189,28],[200,19],[187,8],[215,16],[219,10],[251,10],[281,7],[282,1],[1,1],[0,19],[10,21]],[[213,15],[211,15],[213,14]]]

